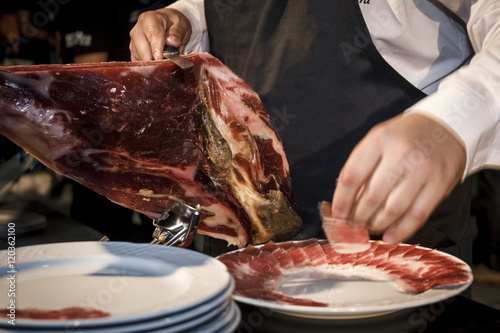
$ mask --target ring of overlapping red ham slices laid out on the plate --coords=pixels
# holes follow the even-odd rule
[[[401,293],[453,288],[471,281],[469,266],[433,249],[371,241],[359,253],[339,253],[327,240],[269,242],[219,257],[236,281],[235,294],[282,304],[328,306],[279,291],[289,277],[387,281]]]

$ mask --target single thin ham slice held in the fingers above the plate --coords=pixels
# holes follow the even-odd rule
[[[370,235],[365,227],[351,226],[347,220],[332,216],[332,204],[320,202],[319,214],[326,238],[339,253],[358,253],[370,248]]]

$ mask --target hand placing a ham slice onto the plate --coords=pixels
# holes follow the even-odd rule
[[[421,115],[375,126],[354,148],[333,195],[332,214],[389,243],[420,229],[460,181],[465,148],[447,127]]]

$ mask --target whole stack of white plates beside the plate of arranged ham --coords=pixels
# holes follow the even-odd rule
[[[0,331],[229,333],[241,319],[225,266],[195,251],[124,242],[56,243],[15,249],[13,266],[8,259],[13,253],[1,252],[0,307],[15,304],[8,312],[16,317],[12,325],[14,317],[2,315]],[[106,316],[55,320],[19,315],[73,307]]]

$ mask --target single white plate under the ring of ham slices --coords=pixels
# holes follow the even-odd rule
[[[297,270],[289,275],[285,281],[280,283],[277,291],[295,298],[307,298],[327,303],[328,306],[280,304],[238,294],[235,294],[233,298],[238,302],[299,317],[353,319],[380,316],[406,308],[439,302],[461,293],[470,286],[473,278],[470,267],[466,263],[447,253],[439,251],[434,253],[439,253],[464,264],[464,267],[467,267],[469,271],[468,281],[450,289],[431,288],[420,294],[406,294],[399,292],[391,283],[385,281],[307,278],[307,276],[314,275],[315,268],[306,267],[304,270]],[[316,272],[321,273],[322,270],[318,268]]]

